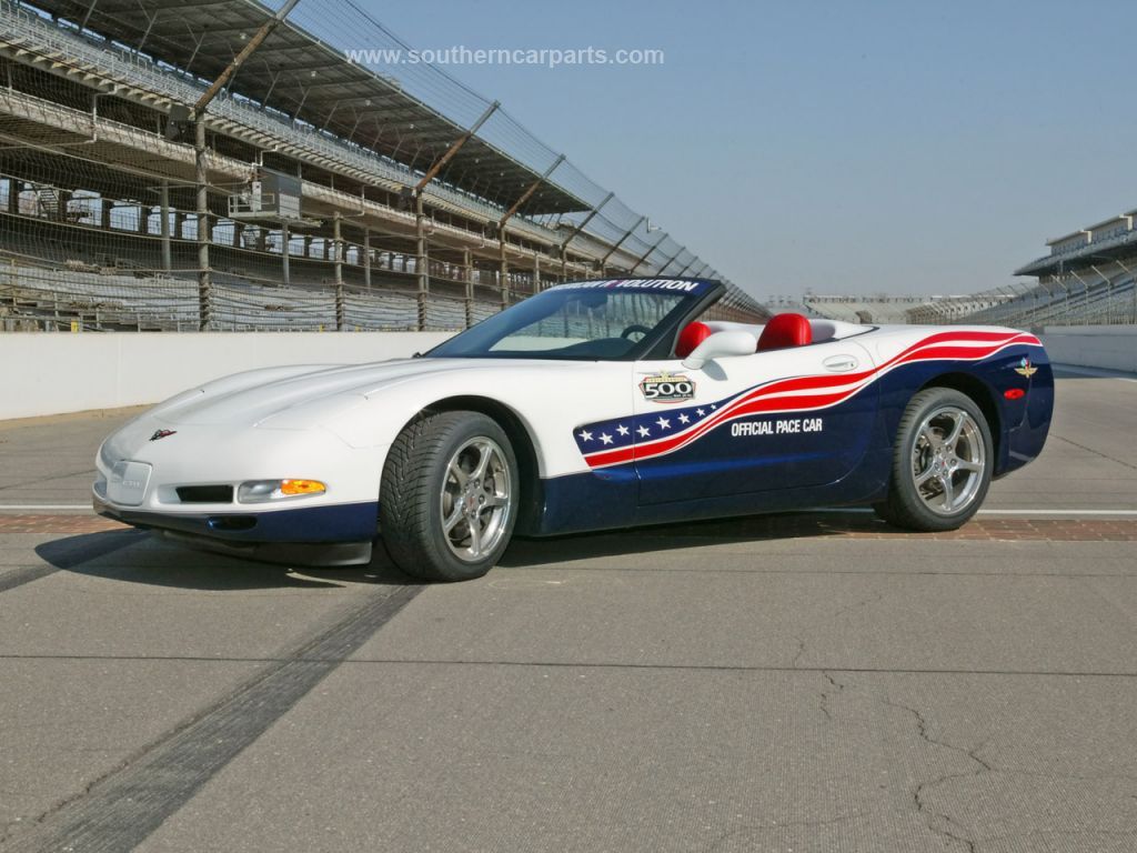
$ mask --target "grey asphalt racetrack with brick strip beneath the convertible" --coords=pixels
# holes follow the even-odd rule
[[[1137,851],[1137,381],[1062,375],[956,533],[739,519],[433,587],[96,517],[128,412],[0,423],[0,850]]]

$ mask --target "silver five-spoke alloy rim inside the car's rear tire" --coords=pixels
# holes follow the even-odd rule
[[[944,406],[920,424],[912,447],[912,481],[933,513],[954,515],[970,506],[986,464],[982,432],[968,412]]]

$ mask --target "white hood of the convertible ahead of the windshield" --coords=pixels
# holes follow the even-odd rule
[[[151,414],[172,425],[315,425],[334,412],[404,382],[468,371],[541,368],[547,361],[406,358],[355,365],[298,365],[251,371],[209,382],[159,405]],[[457,383],[455,387],[459,387]],[[284,416],[291,415],[291,416]],[[282,417],[284,416],[284,417]]]

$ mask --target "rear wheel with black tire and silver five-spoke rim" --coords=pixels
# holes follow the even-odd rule
[[[904,409],[888,497],[873,508],[908,530],[955,530],[979,511],[994,465],[990,429],[974,400],[951,388],[929,388]]]

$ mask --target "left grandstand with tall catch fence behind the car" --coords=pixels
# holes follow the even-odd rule
[[[350,0],[0,0],[0,328],[460,329],[722,278]],[[765,310],[733,284],[719,318]]]

